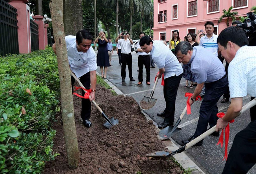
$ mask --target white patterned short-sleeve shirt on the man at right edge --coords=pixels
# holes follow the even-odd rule
[[[242,46],[228,66],[231,98],[256,97],[256,46]]]

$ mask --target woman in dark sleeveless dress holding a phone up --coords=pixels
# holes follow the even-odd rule
[[[101,77],[107,79],[107,69],[109,67],[109,57],[108,57],[108,39],[106,38],[106,33],[101,31],[99,36],[96,38],[95,43],[99,44],[99,50],[97,54],[97,66],[100,67]],[[104,74],[103,74],[104,67]]]

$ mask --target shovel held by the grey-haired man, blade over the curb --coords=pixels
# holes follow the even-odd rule
[[[175,123],[174,126],[167,126],[164,129],[162,129],[161,131],[159,131],[158,135],[161,138],[163,138],[163,140],[172,137],[173,135],[175,135],[177,132],[179,132],[181,130],[177,126],[180,124],[180,122],[181,122],[183,116],[185,115],[186,111],[187,111],[187,106],[182,111],[182,113],[180,115],[180,118],[177,120],[177,122]]]

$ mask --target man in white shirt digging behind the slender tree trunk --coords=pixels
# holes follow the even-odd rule
[[[84,121],[85,127],[91,127],[92,123],[89,120],[91,114],[91,101],[95,99],[96,91],[96,54],[92,44],[92,36],[87,30],[78,31],[76,36],[66,36],[66,45],[68,51],[68,63],[72,72],[77,78],[80,78],[81,83],[86,89],[91,90],[91,99],[82,99],[81,117]],[[52,45],[52,49],[56,54],[56,46]],[[71,76],[72,91],[75,79]],[[82,96],[84,96],[82,90]]]

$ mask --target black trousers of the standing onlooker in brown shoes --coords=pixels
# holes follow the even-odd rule
[[[146,68],[146,82],[150,81],[150,57],[149,55],[141,56],[139,55],[138,57],[138,67],[139,67],[139,82],[143,81],[143,65],[145,65]]]

